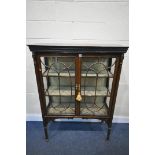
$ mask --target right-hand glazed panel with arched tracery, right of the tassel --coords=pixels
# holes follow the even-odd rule
[[[115,58],[82,56],[80,115],[108,116]]]

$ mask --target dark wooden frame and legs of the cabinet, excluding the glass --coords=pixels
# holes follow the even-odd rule
[[[43,118],[43,125],[45,131],[45,139],[48,140],[47,125],[49,121],[54,121],[57,118],[84,118],[84,119],[100,119],[105,121],[108,125],[107,140],[110,136],[113,113],[115,108],[115,101],[117,96],[117,90],[119,86],[119,79],[121,73],[121,67],[123,63],[124,53],[128,50],[128,47],[94,47],[94,46],[47,46],[47,45],[28,45],[30,51],[32,51],[36,81],[38,86],[40,107]],[[44,84],[41,72],[41,60],[40,57],[45,56],[73,56],[75,57],[75,96],[81,93],[81,56],[104,56],[109,58],[116,58],[116,64],[114,69],[114,77],[112,82],[110,104],[107,116],[98,115],[80,115],[80,100],[75,99],[75,115],[48,115],[45,101]],[[108,82],[106,84],[108,86]]]

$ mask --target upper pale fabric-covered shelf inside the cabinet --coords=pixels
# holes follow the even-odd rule
[[[75,72],[74,71],[69,71],[69,72],[61,72],[61,73],[57,73],[57,72],[48,72],[48,71],[44,71],[43,72],[43,77],[58,77],[58,76],[60,76],[60,77],[75,77]],[[96,77],[96,74],[94,73],[94,72],[86,72],[86,71],[83,71],[82,73],[81,73],[81,76],[82,77]],[[98,74],[98,77],[109,77],[109,78],[112,78],[113,77],[113,74],[111,73],[111,72],[107,72],[107,71],[105,71],[105,72],[102,72],[102,73],[99,73]]]

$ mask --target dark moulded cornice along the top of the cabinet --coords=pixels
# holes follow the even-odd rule
[[[28,45],[30,51],[41,53],[125,53],[127,46],[121,45],[78,45],[78,44],[33,44]]]

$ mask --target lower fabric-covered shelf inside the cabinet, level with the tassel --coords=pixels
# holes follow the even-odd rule
[[[82,96],[110,96],[110,92],[106,87],[103,87],[102,90],[97,90],[95,93],[94,87],[86,87],[81,88],[81,95]],[[75,89],[73,88],[71,91],[71,87],[63,87],[60,90],[54,89],[50,86],[48,89],[45,90],[46,96],[70,96],[75,95]]]

